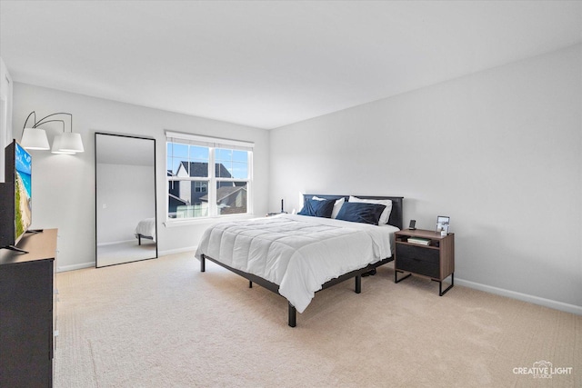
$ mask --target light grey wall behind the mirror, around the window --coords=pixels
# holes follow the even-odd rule
[[[95,132],[156,138],[159,254],[195,247],[207,226],[199,223],[166,228],[162,224],[166,220],[166,129],[254,142],[253,205],[257,214],[267,211],[269,150],[265,130],[15,83],[13,131],[16,139],[20,139],[26,116],[33,110],[38,117],[55,112],[73,114],[73,130],[82,134],[85,144],[83,154],[31,152],[32,227],[59,228],[59,271],[95,264]],[[52,124],[55,126],[44,126],[50,143],[63,128],[62,124]]]

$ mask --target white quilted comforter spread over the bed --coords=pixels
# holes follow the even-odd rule
[[[303,313],[322,284],[390,257],[394,226],[281,214],[216,224],[202,237],[201,254],[279,285]]]

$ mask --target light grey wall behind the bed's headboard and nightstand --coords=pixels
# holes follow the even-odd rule
[[[582,306],[581,107],[576,45],[288,125],[271,132],[270,209],[403,195],[405,224],[451,217],[457,284]]]

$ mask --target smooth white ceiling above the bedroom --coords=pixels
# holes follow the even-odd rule
[[[582,42],[579,1],[0,1],[16,82],[276,128]]]

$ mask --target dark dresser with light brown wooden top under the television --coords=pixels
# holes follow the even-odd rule
[[[0,387],[53,386],[56,229],[0,250]]]

